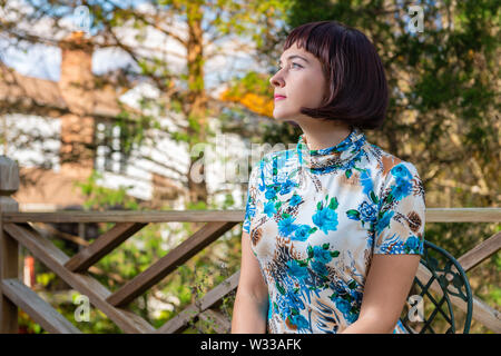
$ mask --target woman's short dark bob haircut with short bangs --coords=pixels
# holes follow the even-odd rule
[[[364,33],[337,21],[310,22],[292,30],[284,51],[294,43],[320,60],[328,83],[322,106],[302,108],[302,113],[361,129],[383,125],[389,105],[386,76]]]

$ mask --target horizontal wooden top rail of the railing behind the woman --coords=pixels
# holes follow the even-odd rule
[[[4,222],[242,222],[245,210],[53,211],[2,215]],[[428,208],[426,222],[499,222],[501,208]]]

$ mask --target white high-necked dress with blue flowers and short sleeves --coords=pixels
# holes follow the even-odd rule
[[[374,254],[422,254],[415,167],[352,128],[336,146],[271,152],[249,177],[243,228],[268,286],[267,332],[337,333],[358,318]],[[406,333],[397,323],[394,333]]]

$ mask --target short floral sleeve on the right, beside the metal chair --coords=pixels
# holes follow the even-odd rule
[[[424,188],[414,165],[395,165],[384,179],[379,201],[374,254],[422,255],[424,210]]]

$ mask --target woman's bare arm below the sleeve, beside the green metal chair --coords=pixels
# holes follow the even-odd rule
[[[358,319],[340,334],[392,333],[405,305],[420,255],[374,254]]]

